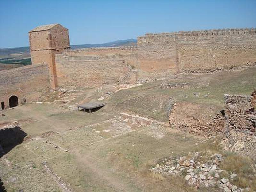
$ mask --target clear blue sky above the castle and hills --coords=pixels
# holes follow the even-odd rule
[[[256,0],[0,0],[0,48],[28,46],[28,31],[60,23],[70,44],[147,32],[256,27]]]

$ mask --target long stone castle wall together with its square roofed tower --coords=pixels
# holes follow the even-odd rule
[[[137,46],[79,50],[67,49],[68,29],[61,25],[29,36],[32,62],[48,64],[51,87],[68,82],[91,87],[256,65],[253,28],[146,34],[138,37]]]

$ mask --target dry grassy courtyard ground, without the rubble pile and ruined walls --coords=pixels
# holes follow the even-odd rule
[[[188,83],[184,88],[162,89],[162,84]],[[0,177],[7,191],[63,191],[56,176],[72,191],[198,191],[182,177],[164,177],[149,169],[166,157],[190,151],[223,153],[219,140],[180,132],[169,126],[132,125],[120,115],[126,112],[168,122],[165,109],[170,98],[224,108],[223,94],[250,94],[256,84],[256,68],[205,75],[179,75],[168,81],[148,82],[114,93],[100,110],[89,114],[70,111],[57,103],[27,103],[4,111],[0,124],[18,121],[27,137],[0,159]],[[103,87],[104,92],[110,91]],[[104,93],[84,90],[71,104],[97,100]],[[195,96],[197,93],[198,96]],[[208,94],[209,93],[209,94]],[[204,97],[208,94],[207,97]],[[251,159],[224,154],[223,169],[237,167],[238,186],[254,189]],[[200,188],[199,191],[218,191]]]

